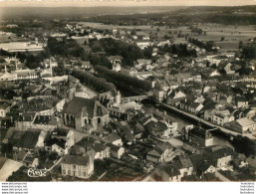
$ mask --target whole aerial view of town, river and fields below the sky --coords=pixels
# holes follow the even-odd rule
[[[0,181],[256,181],[256,5],[0,13]]]

